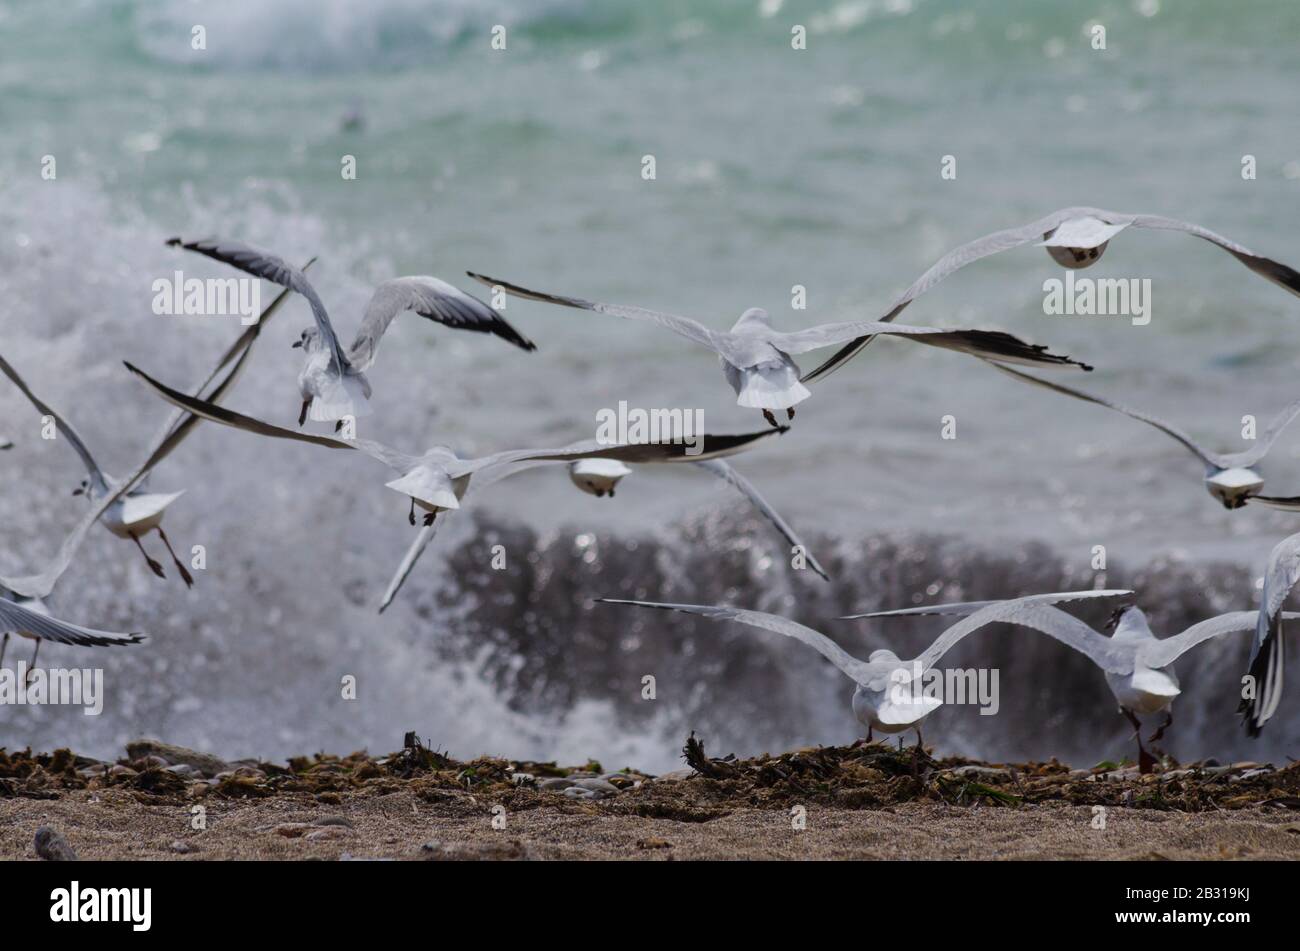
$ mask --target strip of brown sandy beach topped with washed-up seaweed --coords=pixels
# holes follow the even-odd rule
[[[40,826],[81,859],[1300,859],[1300,764],[1141,776],[884,744],[690,752],[694,768],[656,778],[419,744],[287,767],[0,754],[0,859],[38,857]]]

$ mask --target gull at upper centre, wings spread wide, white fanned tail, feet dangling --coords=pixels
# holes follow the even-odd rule
[[[793,420],[794,407],[812,395],[800,382],[800,368],[790,355],[831,347],[863,334],[896,335],[914,343],[1027,366],[1069,365],[1084,370],[1092,369],[1070,357],[1050,353],[1046,347],[1030,344],[1018,336],[994,330],[937,330],[935,327],[910,327],[901,323],[885,325],[879,321],[852,321],[848,323],[822,323],[807,330],[785,334],[772,329],[772,320],[767,311],[751,307],[740,316],[729,331],[722,331],[710,330],[690,317],[646,311],[640,307],[601,304],[581,298],[562,298],[542,291],[530,291],[526,287],[474,272],[467,273],[476,281],[491,287],[500,287],[519,298],[576,307],[627,320],[653,321],[688,340],[707,347],[718,355],[727,382],[736,391],[736,403],[741,407],[763,411],[763,418],[772,426],[777,425],[772,411],[784,409],[786,418]]]

